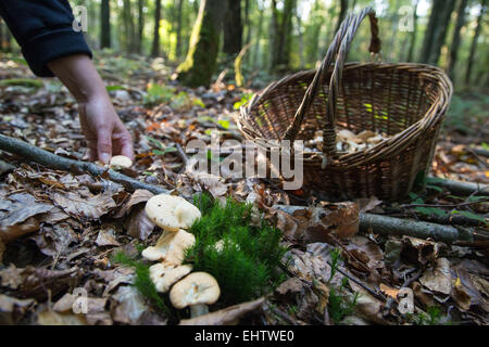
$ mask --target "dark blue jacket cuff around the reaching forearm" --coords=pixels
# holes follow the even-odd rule
[[[73,28],[63,28],[36,36],[22,48],[27,64],[36,76],[53,77],[48,63],[72,54],[91,55],[91,51],[82,33]]]

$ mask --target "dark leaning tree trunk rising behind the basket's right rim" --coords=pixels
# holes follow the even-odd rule
[[[421,56],[423,63],[431,65],[438,64],[454,5],[455,0],[434,0],[428,28],[426,29],[425,39],[423,41]]]

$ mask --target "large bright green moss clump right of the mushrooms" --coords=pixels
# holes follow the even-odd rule
[[[281,233],[262,222],[252,227],[251,205],[228,198],[225,206],[206,194],[195,198],[202,218],[191,228],[196,245],[186,253],[193,271],[205,271],[220,283],[220,303],[233,305],[269,293],[284,279],[279,269],[286,252]],[[215,244],[223,241],[223,248]]]

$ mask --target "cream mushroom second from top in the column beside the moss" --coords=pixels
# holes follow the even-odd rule
[[[148,260],[163,260],[170,265],[181,265],[185,249],[196,243],[196,236],[180,229],[177,233],[164,231],[155,246],[142,250],[141,255]]]

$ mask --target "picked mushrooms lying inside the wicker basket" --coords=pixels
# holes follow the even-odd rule
[[[362,132],[354,133],[351,130],[341,129],[337,132],[336,139],[336,149],[338,152],[354,153],[372,149],[377,143],[388,139],[388,137],[372,130],[363,130]],[[323,146],[323,131],[316,131],[314,139],[306,141],[305,145],[311,146],[312,152],[319,152]]]

